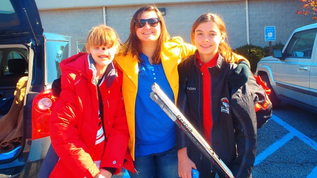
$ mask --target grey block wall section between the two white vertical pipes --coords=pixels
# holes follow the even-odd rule
[[[202,13],[214,12],[221,14],[224,21],[228,22],[227,31],[229,43],[232,46],[247,43],[244,1],[160,4],[157,6],[159,8],[165,8],[166,15],[163,17],[171,37],[181,36],[185,42],[191,43],[190,32],[194,21]],[[117,30],[123,41],[129,36],[131,17],[140,7],[141,6],[106,8],[107,24]],[[230,7],[234,10],[228,11],[227,9]],[[236,28],[239,30],[237,31]]]

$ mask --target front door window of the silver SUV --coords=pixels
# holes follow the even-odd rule
[[[287,45],[283,56],[311,58],[317,29],[297,32]]]

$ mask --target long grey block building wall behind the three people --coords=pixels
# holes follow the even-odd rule
[[[264,26],[276,27],[276,42],[285,44],[291,32],[304,25],[316,23],[311,16],[295,14],[298,0],[248,0],[249,35],[252,45],[267,46],[264,41]],[[247,22],[245,1],[210,1],[195,3],[158,4],[164,7],[167,30],[171,36],[181,36],[190,42],[193,22],[205,12],[220,14],[226,25],[229,44],[236,48],[247,44]],[[141,6],[106,7],[106,24],[113,27],[122,42],[129,36],[130,20]],[[61,33],[72,36],[72,40],[86,39],[92,26],[104,22],[103,8],[73,8],[41,10],[45,32]],[[274,44],[275,42],[273,42]],[[75,43],[72,44],[73,47]]]

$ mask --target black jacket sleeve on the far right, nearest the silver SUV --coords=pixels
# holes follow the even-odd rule
[[[254,109],[254,91],[248,83],[241,88],[232,88],[231,110],[237,157],[230,164],[236,178],[248,178],[253,170],[257,151],[257,120]]]

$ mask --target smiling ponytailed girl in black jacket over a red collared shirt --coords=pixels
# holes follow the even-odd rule
[[[229,86],[227,77],[237,65],[226,37],[225,24],[216,14],[202,14],[194,22],[191,40],[197,51],[178,66],[177,106],[235,178],[250,178],[257,149],[254,107],[259,86],[251,73],[243,86]],[[198,169],[201,178],[221,173],[182,133],[178,144],[180,177],[191,178],[192,169]]]

